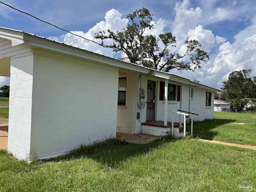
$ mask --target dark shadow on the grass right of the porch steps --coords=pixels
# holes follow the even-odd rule
[[[208,119],[201,122],[194,122],[193,125],[193,134],[194,137],[198,137],[201,139],[212,140],[218,132],[212,130],[217,128],[218,126],[228,124],[231,122],[235,122],[236,120],[229,120],[229,119]],[[188,130],[190,131],[190,126],[188,126]]]

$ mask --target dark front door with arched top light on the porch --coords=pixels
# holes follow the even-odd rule
[[[148,80],[147,121],[155,120],[156,82]]]

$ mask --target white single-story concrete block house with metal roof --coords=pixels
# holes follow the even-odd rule
[[[177,110],[212,119],[220,91],[7,28],[0,28],[0,76],[10,76],[8,151],[28,161],[67,154],[116,132],[170,134],[172,112],[175,122],[182,119]],[[146,124],[154,121],[163,125]]]

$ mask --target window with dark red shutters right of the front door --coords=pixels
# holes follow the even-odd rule
[[[168,84],[168,101],[180,101],[180,85]],[[160,81],[159,100],[164,100],[164,82]]]

